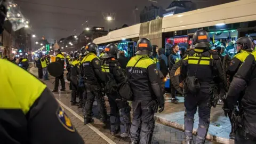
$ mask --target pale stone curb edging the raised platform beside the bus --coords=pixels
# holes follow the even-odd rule
[[[164,118],[156,116],[156,115],[154,116],[154,118],[156,121],[161,122],[164,125],[171,126],[171,127],[174,127],[175,129],[179,129],[182,131],[185,130],[185,126],[183,124],[179,124],[179,123],[173,122],[173,121],[168,121],[167,119],[164,119]],[[196,132],[197,132],[197,129],[193,129],[194,135],[196,135]],[[225,144],[234,144],[235,143],[235,141],[233,139],[226,139],[226,138],[218,137],[216,135],[212,135],[209,133],[207,133],[206,139],[211,140],[211,141],[216,141],[219,143],[225,143]]]

